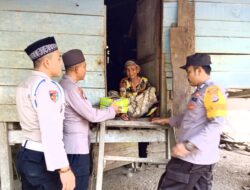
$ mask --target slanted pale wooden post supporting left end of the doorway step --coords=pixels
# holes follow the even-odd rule
[[[96,177],[96,190],[102,190],[103,171],[104,171],[104,148],[105,148],[105,131],[106,124],[101,122],[99,133],[99,153],[98,153],[98,165],[97,165],[97,177]]]

